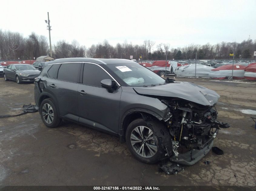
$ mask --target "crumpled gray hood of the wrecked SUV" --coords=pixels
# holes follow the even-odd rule
[[[174,82],[155,87],[134,87],[133,89],[141,95],[177,97],[204,106],[212,106],[220,98],[215,91],[190,82]]]

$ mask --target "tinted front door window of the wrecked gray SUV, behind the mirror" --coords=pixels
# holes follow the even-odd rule
[[[83,72],[83,84],[101,87],[101,80],[111,79],[107,72],[95,64],[85,63]]]

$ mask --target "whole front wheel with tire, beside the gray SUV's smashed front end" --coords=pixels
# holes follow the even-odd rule
[[[134,157],[144,163],[154,164],[160,160],[158,141],[154,138],[152,129],[157,128],[154,121],[135,119],[126,130],[126,143]]]

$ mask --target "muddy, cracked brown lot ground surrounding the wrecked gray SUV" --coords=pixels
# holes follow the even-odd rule
[[[255,186],[256,129],[250,116],[256,117],[256,83],[176,80],[194,82],[221,95],[218,120],[231,127],[219,131],[214,146],[224,155],[210,151],[197,164],[166,175],[157,165],[135,160],[117,137],[74,123],[48,129],[38,112],[28,113],[0,119],[0,185]],[[34,84],[0,78],[0,115],[18,114],[28,103],[35,104]]]

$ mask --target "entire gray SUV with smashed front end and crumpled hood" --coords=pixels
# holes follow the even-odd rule
[[[68,58],[46,62],[35,79],[43,123],[61,119],[114,134],[136,159],[192,165],[204,157],[220,128],[207,88],[161,78],[125,59]]]

